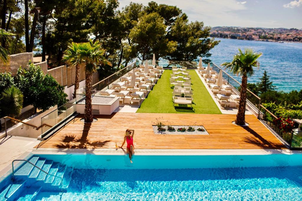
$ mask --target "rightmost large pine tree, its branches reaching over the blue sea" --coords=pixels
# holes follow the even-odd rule
[[[183,14],[178,17],[168,34],[169,41],[177,42],[176,51],[169,53],[166,58],[176,61],[193,61],[198,57],[210,57],[210,49],[220,41],[209,38],[210,27],[204,27],[203,22],[190,22]],[[203,59],[209,62],[209,59]]]

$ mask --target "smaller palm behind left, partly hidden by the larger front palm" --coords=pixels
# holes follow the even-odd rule
[[[68,65],[76,66],[76,80],[75,80],[75,89],[73,93],[73,98],[76,98],[76,90],[79,89],[80,82],[80,64],[82,60],[78,55],[78,43],[71,43],[71,46],[68,46],[68,49],[65,51],[63,55],[63,60],[66,61]]]

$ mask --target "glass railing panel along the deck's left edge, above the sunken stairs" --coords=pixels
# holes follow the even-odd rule
[[[56,126],[60,122],[66,120],[66,118],[68,118],[75,112],[75,107],[73,105],[75,101],[76,100],[73,99],[41,118],[42,137],[44,133],[46,133],[48,130],[50,130],[52,127]]]

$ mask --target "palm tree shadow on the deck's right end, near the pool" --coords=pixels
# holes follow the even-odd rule
[[[250,127],[242,127],[244,130],[251,133],[254,137],[244,137],[244,142],[254,144],[259,146],[261,149],[276,149],[282,152],[282,148],[286,148],[281,142],[280,144],[273,143],[269,140],[263,138],[260,134],[258,134],[255,130]]]

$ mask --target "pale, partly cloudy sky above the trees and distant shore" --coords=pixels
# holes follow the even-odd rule
[[[119,0],[120,9],[130,2],[148,5],[151,0]],[[174,5],[191,21],[205,26],[302,29],[302,0],[153,0]]]

